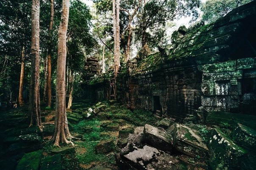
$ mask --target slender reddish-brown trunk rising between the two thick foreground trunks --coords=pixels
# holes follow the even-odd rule
[[[53,31],[53,16],[54,16],[54,0],[51,0],[51,17],[50,17],[50,27],[49,27],[49,44],[48,44],[48,54],[47,54],[47,102],[46,105],[51,107],[52,105],[52,31]]]

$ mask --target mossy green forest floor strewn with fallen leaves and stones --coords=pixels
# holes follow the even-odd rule
[[[97,110],[97,108],[99,108]],[[97,113],[93,113],[92,110]],[[42,133],[36,127],[28,128],[28,105],[8,109],[2,105],[0,108],[0,169],[17,169],[17,166],[30,168],[26,163],[21,165],[22,157],[25,153],[42,151],[39,155],[38,168],[45,166],[45,161],[54,159],[53,167],[65,170],[80,169],[100,169],[118,170],[115,156],[120,152],[117,143],[120,141],[120,130],[131,130],[134,127],[150,124],[157,127],[161,119],[150,111],[142,109],[130,110],[119,103],[103,101],[90,103],[88,100],[80,100],[72,103],[72,109],[67,109],[69,128],[72,136],[79,138],[74,140],[75,147],[61,145],[61,148],[73,148],[61,151],[58,159],[58,148],[53,146],[50,138],[54,130],[55,109],[47,108],[42,104],[41,114],[44,130]],[[90,116],[88,113],[91,113]],[[89,116],[89,117],[87,117]],[[198,132],[202,137],[203,143],[209,143],[211,129],[217,127],[225,134],[231,135],[232,126],[229,124],[230,116],[227,121],[222,119],[217,124],[206,124],[196,119],[196,116],[187,116],[185,119],[172,119],[173,123],[182,123]],[[215,118],[214,118],[215,119]],[[239,118],[240,119],[240,118]],[[242,118],[241,118],[242,119]],[[254,119],[252,119],[254,120]],[[248,120],[249,121],[249,120]],[[236,122],[236,121],[234,121]],[[213,123],[213,122],[211,122]],[[28,141],[22,139],[27,134],[38,134],[39,140]],[[97,151],[97,144],[103,140],[112,140],[110,151]],[[55,157],[56,156],[56,157]],[[34,156],[33,156],[34,157]],[[28,158],[27,158],[28,159]],[[56,161],[55,161],[56,159]],[[32,161],[29,160],[27,164]],[[58,165],[57,165],[58,163]],[[192,162],[196,164],[196,162]],[[50,166],[49,163],[46,163]],[[18,168],[19,169],[19,168]],[[26,168],[25,168],[26,169]],[[31,168],[33,169],[33,168]],[[50,169],[50,168],[48,168]]]

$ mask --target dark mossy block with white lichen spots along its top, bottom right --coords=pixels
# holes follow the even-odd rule
[[[209,164],[213,170],[239,169],[246,151],[219,129],[214,128],[209,140]]]

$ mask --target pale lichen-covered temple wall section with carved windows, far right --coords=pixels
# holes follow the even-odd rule
[[[245,58],[200,66],[202,105],[206,111],[254,113],[256,59]]]

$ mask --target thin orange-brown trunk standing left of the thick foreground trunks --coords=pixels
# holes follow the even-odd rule
[[[25,73],[25,46],[22,47],[22,52],[21,52],[21,70],[20,70],[20,78],[19,78],[19,106],[24,105],[24,100],[23,100],[24,73]]]

